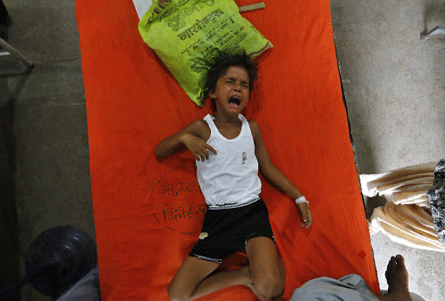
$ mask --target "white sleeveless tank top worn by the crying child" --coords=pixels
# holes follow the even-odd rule
[[[214,117],[206,115],[210,127],[207,144],[218,154],[209,151],[208,160],[196,162],[198,183],[209,210],[230,209],[258,201],[261,180],[255,144],[247,119],[239,114],[241,132],[235,139],[226,139],[214,125]]]

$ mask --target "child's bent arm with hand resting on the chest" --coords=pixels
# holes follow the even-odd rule
[[[206,136],[209,136],[209,134],[206,133],[205,123],[202,120],[197,120],[190,123],[182,131],[162,140],[159,142],[158,147],[155,148],[155,156],[164,158],[181,150],[183,147],[187,147],[197,160],[204,161],[208,159],[208,151],[216,154],[214,148],[206,144],[208,139]]]

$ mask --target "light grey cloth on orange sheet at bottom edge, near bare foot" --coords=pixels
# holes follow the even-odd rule
[[[357,274],[338,280],[321,277],[295,289],[290,301],[378,301],[368,284]]]

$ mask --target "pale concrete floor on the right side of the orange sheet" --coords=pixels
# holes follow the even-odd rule
[[[331,0],[336,50],[360,173],[380,173],[445,155],[445,1]],[[392,255],[405,257],[410,290],[445,300],[445,253],[371,237],[381,289]]]

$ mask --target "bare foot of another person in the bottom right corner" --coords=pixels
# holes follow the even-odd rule
[[[385,276],[389,286],[388,294],[378,297],[379,300],[412,300],[409,295],[408,271],[405,267],[405,259],[401,255],[391,257]]]

